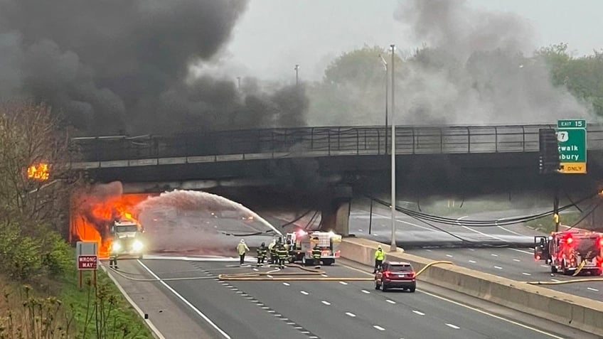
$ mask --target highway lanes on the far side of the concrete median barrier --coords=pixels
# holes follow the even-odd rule
[[[428,225],[422,224],[420,221],[398,213],[396,217],[396,239],[402,247],[407,247],[407,252],[410,254],[434,260],[449,260],[462,267],[518,281],[555,282],[597,278],[596,276],[589,275],[564,276],[562,274],[553,274],[552,276],[548,265],[545,265],[542,261],[535,261],[532,248],[501,247],[501,245],[513,246],[513,244],[509,244],[508,242],[516,241],[533,244],[534,235],[543,235],[541,232],[536,232],[523,225],[469,227],[462,224],[462,220],[464,219],[503,220],[503,218],[533,215],[538,212],[543,212],[543,210],[479,212],[473,215],[457,217],[457,225],[433,224],[464,240],[469,240],[469,242],[462,242],[445,232],[435,230]],[[390,213],[389,210],[373,208],[373,226],[372,232],[369,235],[367,228],[368,211],[364,209],[354,210],[351,213],[351,232],[356,232],[361,237],[389,244],[391,241],[391,217],[388,213]],[[447,242],[448,240],[449,242]],[[444,242],[446,243],[444,244]],[[438,244],[444,244],[444,248],[435,248]],[[481,248],[471,248],[478,245]],[[603,276],[599,276],[598,278],[603,280]],[[603,281],[541,286],[603,301]]]

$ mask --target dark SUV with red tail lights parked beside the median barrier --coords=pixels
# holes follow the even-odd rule
[[[375,274],[375,289],[407,289],[414,292],[417,288],[415,270],[410,262],[384,262]]]

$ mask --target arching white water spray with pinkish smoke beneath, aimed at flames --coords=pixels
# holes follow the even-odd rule
[[[240,203],[206,192],[161,193],[139,203],[136,209],[151,248],[159,251],[232,252],[241,239],[255,247],[281,234]]]

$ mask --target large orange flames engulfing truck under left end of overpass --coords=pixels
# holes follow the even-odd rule
[[[111,245],[110,226],[114,220],[137,222],[134,207],[148,198],[148,194],[124,194],[97,200],[87,195],[74,195],[70,214],[70,237],[75,241],[97,242],[99,256],[108,257]]]

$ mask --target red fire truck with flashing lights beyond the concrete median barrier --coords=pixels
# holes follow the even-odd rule
[[[544,260],[551,273],[570,275],[603,271],[603,234],[586,230],[552,232],[548,237],[534,237],[534,259]]]

